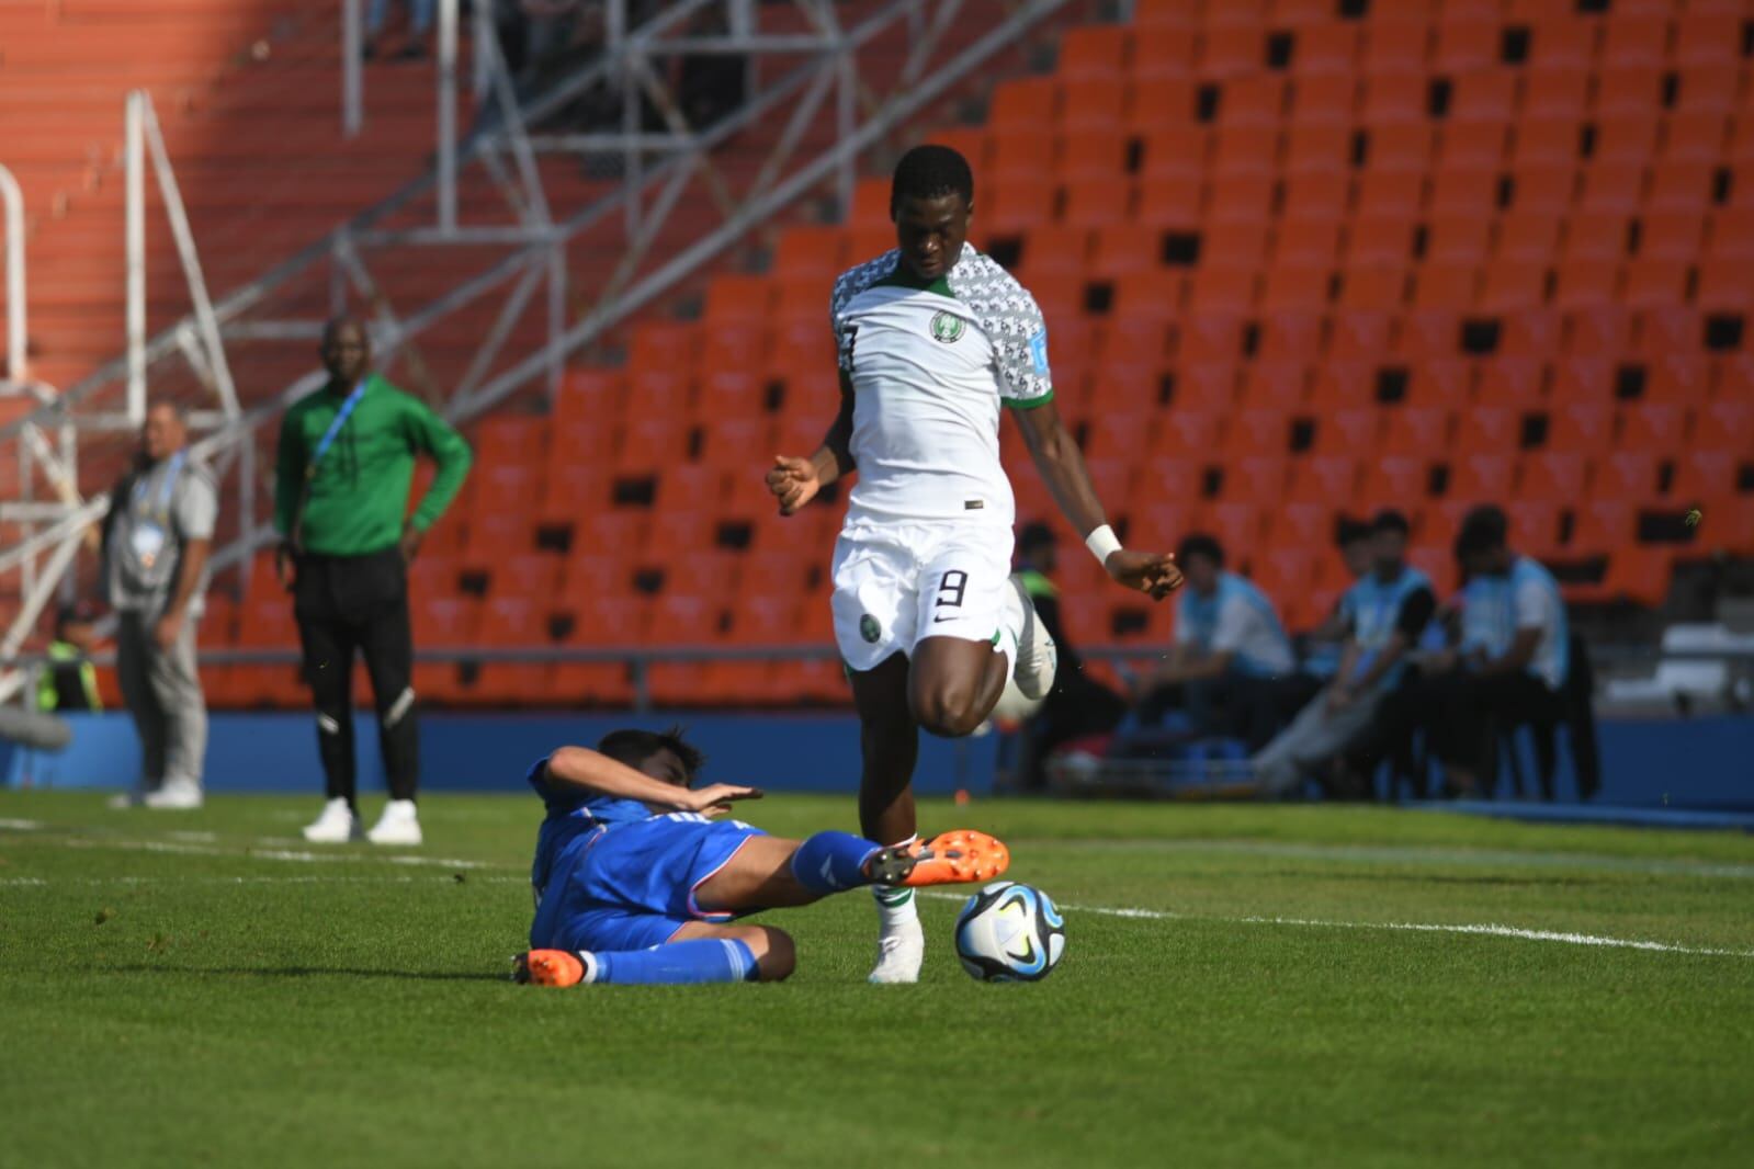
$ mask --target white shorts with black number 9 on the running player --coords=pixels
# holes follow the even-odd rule
[[[1010,528],[849,524],[835,542],[835,641],[875,670],[926,638],[993,641],[1010,587]]]

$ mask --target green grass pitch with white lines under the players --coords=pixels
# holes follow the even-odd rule
[[[958,901],[937,897],[924,981],[865,985],[875,917],[851,894],[775,915],[798,938],[789,983],[537,990],[503,980],[535,801],[435,796],[412,857],[305,847],[312,811],[0,794],[0,1165],[1742,1165],[1754,1148],[1749,836],[940,804],[926,824],[1000,832],[1010,875],[1066,908],[1047,981],[965,976]],[[789,834],[854,818],[821,797],[745,815]]]

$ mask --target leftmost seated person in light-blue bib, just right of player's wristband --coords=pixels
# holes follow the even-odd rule
[[[1175,608],[1175,645],[1163,666],[1138,680],[1138,720],[1154,726],[1180,706],[1201,734],[1242,738],[1259,750],[1296,685],[1296,657],[1279,612],[1252,582],[1224,571],[1224,549],[1212,536],[1186,536],[1175,564],[1187,578]]]

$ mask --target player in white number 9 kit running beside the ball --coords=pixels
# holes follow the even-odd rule
[[[919,729],[963,736],[1007,680],[1028,698],[1054,680],[1054,645],[1010,580],[1014,503],[1000,466],[1010,407],[1061,512],[1119,584],[1161,599],[1173,557],[1121,547],[1077,443],[1059,421],[1035,298],[966,244],[973,175],[944,145],[895,168],[895,251],[835,280],[840,412],[809,457],[768,470],[782,515],[858,470],[835,543],[835,641],[859,713],[859,824],[916,838]],[[917,981],[914,890],[873,887],[882,920],[872,981]]]

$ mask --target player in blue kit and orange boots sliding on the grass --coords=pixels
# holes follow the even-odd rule
[[[733,918],[865,885],[993,880],[1010,864],[982,832],[886,848],[847,832],[781,840],[714,820],[754,787],[689,787],[702,754],[679,731],[614,731],[530,769],[547,804],[530,873],[537,915],[514,978],[545,987],[775,981],[791,938]]]

